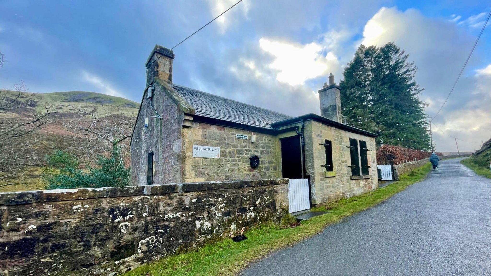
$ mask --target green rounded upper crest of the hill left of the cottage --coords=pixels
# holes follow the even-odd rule
[[[0,90],[5,91],[5,90]],[[12,97],[17,95],[17,91],[7,90],[8,95]],[[24,92],[26,97],[35,95],[33,103],[29,105],[32,109],[39,110],[43,108],[43,103],[48,102],[50,105],[59,106],[59,116],[73,117],[81,113],[80,109],[96,109],[99,115],[110,115],[114,113],[136,113],[139,104],[125,98],[110,96],[106,94],[88,92],[88,91],[66,91],[53,93],[30,93]],[[31,110],[32,111],[32,110]],[[29,110],[13,110],[14,113],[22,116]]]

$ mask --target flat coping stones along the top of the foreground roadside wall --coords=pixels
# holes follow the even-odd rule
[[[143,186],[58,189],[0,193],[0,205],[24,205],[35,202],[66,201],[103,197],[189,193],[199,191],[288,184],[287,178],[232,180],[194,183],[169,183]]]

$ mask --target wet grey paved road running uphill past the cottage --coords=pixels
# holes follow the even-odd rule
[[[459,161],[243,276],[491,275],[491,179]]]

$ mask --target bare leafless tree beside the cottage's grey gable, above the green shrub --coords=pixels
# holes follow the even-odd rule
[[[135,113],[118,107],[107,110],[104,105],[99,109],[84,109],[73,105],[68,107],[81,113],[80,117],[62,121],[63,127],[75,134],[65,137],[71,140],[69,150],[75,151],[82,162],[94,162],[98,154],[109,154],[112,147],[117,145],[121,148],[122,158],[128,164]]]

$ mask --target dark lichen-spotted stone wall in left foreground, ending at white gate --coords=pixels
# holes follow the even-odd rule
[[[0,193],[0,275],[114,276],[278,221],[287,193],[287,179]]]

